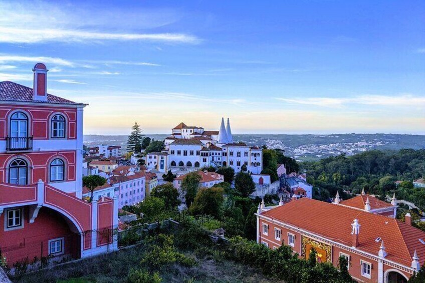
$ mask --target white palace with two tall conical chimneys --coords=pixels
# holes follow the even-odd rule
[[[171,136],[165,138],[164,143],[162,152],[146,155],[147,169],[165,173],[181,168],[230,166],[237,173],[245,165],[247,171],[253,174],[260,174],[263,170],[261,148],[235,143],[229,118],[227,126],[222,118],[219,131],[205,131],[202,127],[180,123],[172,129]]]

